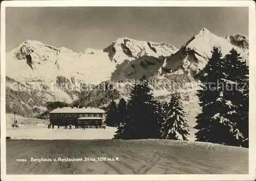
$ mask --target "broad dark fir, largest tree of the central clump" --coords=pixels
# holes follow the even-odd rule
[[[145,76],[131,91],[121,137],[122,139],[161,138],[157,102],[154,100]]]

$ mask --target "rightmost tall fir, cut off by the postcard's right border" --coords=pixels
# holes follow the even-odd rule
[[[225,61],[228,70],[225,77],[228,87],[225,99],[232,106],[230,119],[236,123],[236,145],[248,147],[249,69],[234,48],[226,55]]]

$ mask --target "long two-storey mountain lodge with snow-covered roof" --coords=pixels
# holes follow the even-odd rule
[[[52,125],[101,126],[104,119],[104,110],[94,107],[63,107],[50,112]]]

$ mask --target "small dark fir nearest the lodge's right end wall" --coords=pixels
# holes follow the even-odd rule
[[[110,104],[106,107],[106,113],[105,113],[105,124],[107,126],[112,126],[114,127],[116,125],[117,121],[117,106],[116,102],[112,99]]]

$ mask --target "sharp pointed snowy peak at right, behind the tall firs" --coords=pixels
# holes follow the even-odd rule
[[[223,56],[228,54],[229,51],[234,48],[241,54],[241,57],[244,60],[248,61],[248,51],[237,45],[233,45],[236,44],[235,42],[238,43],[240,39],[236,38],[236,41],[233,41],[233,39],[232,41],[229,40],[231,40],[230,36],[227,39],[218,37],[203,28],[198,34],[185,43],[173,56],[167,59],[166,65],[162,67],[163,73],[198,74],[200,70],[204,68],[211,56],[210,51],[213,46],[219,47]],[[245,45],[244,47],[246,48],[247,46]]]

